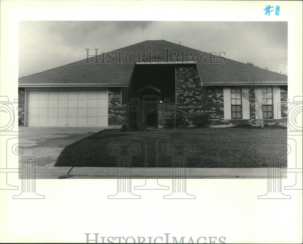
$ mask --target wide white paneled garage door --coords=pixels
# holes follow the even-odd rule
[[[107,90],[28,91],[28,126],[107,126]]]

